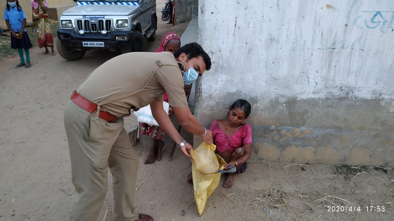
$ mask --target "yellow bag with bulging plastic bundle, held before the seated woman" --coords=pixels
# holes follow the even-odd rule
[[[216,145],[201,143],[193,151],[189,151],[191,160],[191,173],[193,175],[194,200],[197,204],[199,215],[203,215],[206,200],[219,186],[221,173],[226,162],[218,154],[215,154]],[[210,173],[210,174],[206,174]]]

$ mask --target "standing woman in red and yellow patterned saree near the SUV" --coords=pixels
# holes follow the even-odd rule
[[[33,8],[33,30],[35,28],[38,29],[38,45],[40,48],[45,48],[45,52],[43,54],[48,54],[48,47],[52,50],[52,55],[55,55],[53,50],[53,36],[50,29],[50,23],[48,20],[48,14],[46,14],[46,10],[48,10],[48,0],[32,0],[30,2]]]

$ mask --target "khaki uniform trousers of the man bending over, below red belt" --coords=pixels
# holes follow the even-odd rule
[[[75,187],[71,221],[96,221],[112,173],[115,221],[138,219],[135,211],[138,155],[123,126],[123,118],[110,123],[69,101],[64,126]]]

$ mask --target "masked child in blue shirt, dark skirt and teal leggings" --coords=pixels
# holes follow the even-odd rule
[[[18,0],[7,0],[6,10],[4,10],[4,19],[7,27],[11,31],[11,48],[18,49],[20,63],[15,68],[25,66],[30,68],[30,53],[29,48],[32,48],[29,35],[26,32],[26,15],[22,7],[20,7]],[[26,53],[26,63],[23,57],[23,50]]]

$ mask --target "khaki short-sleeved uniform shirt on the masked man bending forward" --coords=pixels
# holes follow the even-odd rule
[[[121,118],[130,115],[131,109],[138,110],[154,100],[162,102],[164,92],[169,105],[188,107],[182,77],[184,66],[170,52],[134,52],[114,57],[96,68],[77,92],[95,104],[103,103],[141,90],[156,69],[145,90],[101,108]]]

